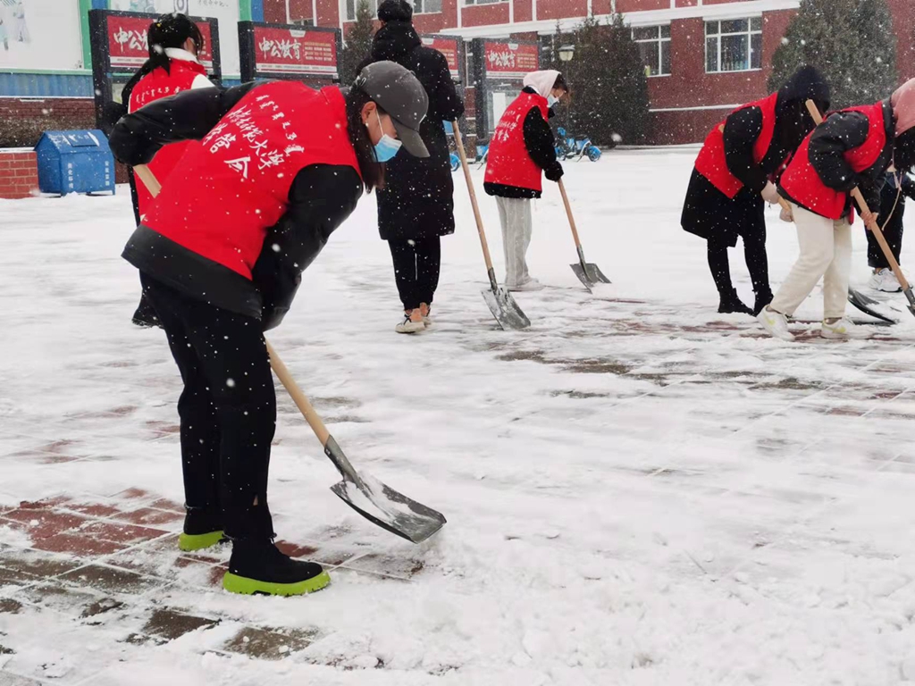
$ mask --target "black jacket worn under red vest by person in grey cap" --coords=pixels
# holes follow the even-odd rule
[[[115,124],[108,141],[112,153],[125,165],[145,165],[163,145],[199,141],[257,85],[183,91],[150,102]],[[302,272],[356,209],[362,188],[359,174],[350,166],[315,164],[300,169],[289,188],[285,214],[267,230],[251,280],[143,224],[127,242],[123,257],[156,281],[258,319],[267,330],[283,320]]]

